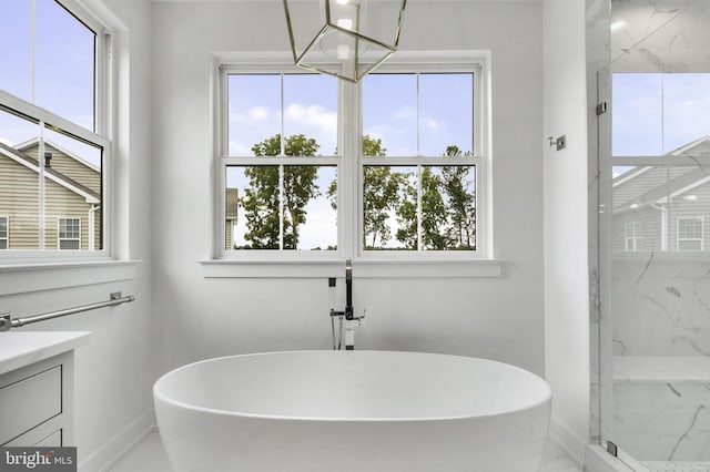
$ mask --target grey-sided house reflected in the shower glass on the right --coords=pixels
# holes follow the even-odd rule
[[[612,250],[710,249],[710,136],[667,156],[691,165],[637,166],[612,181]]]

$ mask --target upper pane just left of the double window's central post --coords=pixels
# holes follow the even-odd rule
[[[337,80],[327,75],[284,75],[284,135],[317,143],[315,154],[337,150]],[[288,154],[288,150],[286,150]]]

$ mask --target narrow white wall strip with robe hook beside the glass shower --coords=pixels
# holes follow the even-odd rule
[[[589,441],[585,2],[544,0],[545,366],[552,434],[579,462]]]

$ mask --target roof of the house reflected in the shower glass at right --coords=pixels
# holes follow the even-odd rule
[[[702,136],[665,155],[691,160],[710,157],[710,136]],[[699,161],[697,166],[636,166],[612,181],[613,212],[665,204],[669,198],[672,199],[708,182],[710,170]]]

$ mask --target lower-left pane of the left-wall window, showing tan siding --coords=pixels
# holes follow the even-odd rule
[[[37,142],[37,123],[0,109],[0,215],[10,223],[10,249],[38,249],[39,171],[37,158],[23,150]]]

